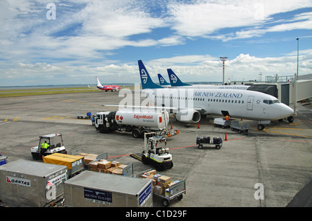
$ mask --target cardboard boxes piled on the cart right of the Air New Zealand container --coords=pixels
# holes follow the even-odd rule
[[[153,193],[158,195],[164,195],[166,188],[169,188],[172,184],[174,184],[171,182],[171,177],[157,174],[156,170],[150,170],[144,173],[141,175],[141,178],[152,179]]]

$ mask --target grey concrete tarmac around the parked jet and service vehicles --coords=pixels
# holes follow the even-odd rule
[[[118,91],[0,98],[0,154],[8,162],[33,161],[31,148],[39,136],[62,133],[67,152],[107,152],[112,161],[132,163],[135,173],[150,168],[130,154],[141,152],[144,139],[130,133],[101,134],[89,119],[78,119],[77,112],[115,111],[124,96]],[[134,104],[134,103],[133,103]],[[312,108],[297,105],[293,123],[274,121],[257,130],[250,123],[248,134],[214,127],[207,116],[199,124],[175,121],[180,134],[167,139],[173,155],[173,168],[160,171],[173,180],[184,179],[187,193],[171,207],[285,207],[312,206]],[[237,119],[241,120],[241,119]],[[245,122],[245,120],[243,120]],[[199,149],[196,136],[227,135],[222,148]],[[154,206],[162,206],[154,198]]]

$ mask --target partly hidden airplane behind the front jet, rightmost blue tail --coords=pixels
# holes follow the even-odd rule
[[[177,77],[177,75],[171,69],[167,69],[171,87],[181,87],[181,88],[198,88],[198,89],[248,89],[248,85],[190,85],[184,83]]]

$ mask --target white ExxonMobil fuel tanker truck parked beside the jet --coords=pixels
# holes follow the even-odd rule
[[[155,112],[135,112],[132,110],[97,112],[94,116],[94,127],[101,133],[131,132],[135,138],[150,132],[168,137],[179,134],[179,130],[169,130],[168,123],[169,114],[165,110]]]

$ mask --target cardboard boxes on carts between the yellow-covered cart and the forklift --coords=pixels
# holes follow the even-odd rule
[[[88,164],[92,161],[96,160],[97,154],[86,154],[81,152],[80,154],[84,157],[83,163]],[[127,165],[122,165],[120,162],[117,161],[107,161],[106,159],[99,159],[93,163],[89,164],[89,170],[96,171],[100,173],[112,173],[116,175],[123,175],[123,168]]]

